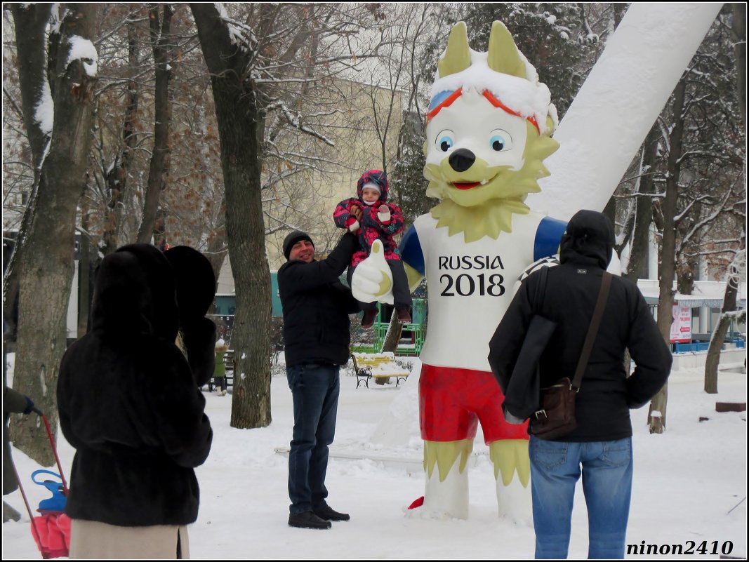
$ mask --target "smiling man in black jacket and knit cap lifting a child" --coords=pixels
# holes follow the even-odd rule
[[[328,506],[325,487],[328,446],[336,433],[339,367],[348,361],[349,314],[358,311],[341,275],[357,249],[357,238],[345,233],[325,260],[315,260],[307,233],[286,236],[288,260],[278,272],[283,307],[286,376],[294,398],[294,436],[288,456],[288,524],[328,529],[331,521],[348,521]]]

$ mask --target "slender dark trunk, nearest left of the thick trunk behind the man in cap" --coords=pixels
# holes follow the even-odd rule
[[[154,94],[154,151],[151,153],[151,166],[148,168],[148,185],[143,202],[143,219],[138,229],[138,242],[148,244],[154,237],[157,210],[162,190],[166,187],[166,175],[169,173],[169,120],[171,119],[169,103],[169,76],[172,70],[172,37],[169,28],[175,8],[172,4],[163,4],[164,15],[159,17],[159,5],[149,4],[148,19],[151,23],[151,47],[154,50],[154,69],[156,71],[156,92]]]

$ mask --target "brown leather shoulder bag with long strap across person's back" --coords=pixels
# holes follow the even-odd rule
[[[585,337],[583,351],[580,353],[580,360],[577,361],[577,369],[574,371],[574,379],[570,381],[565,376],[557,381],[557,384],[541,389],[541,409],[530,417],[530,424],[528,424],[528,433],[532,436],[539,439],[557,439],[577,427],[574,417],[574,400],[577,391],[580,390],[580,382],[582,382],[583,373],[593,349],[595,336],[598,334],[598,326],[601,325],[601,317],[604,315],[610,287],[611,274],[604,272],[588,335]]]

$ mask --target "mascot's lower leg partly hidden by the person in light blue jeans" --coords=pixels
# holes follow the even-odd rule
[[[530,498],[530,459],[527,439],[500,439],[489,445],[497,479],[497,506],[501,518],[533,526]]]

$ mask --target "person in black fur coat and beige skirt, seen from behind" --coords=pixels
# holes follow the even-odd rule
[[[189,558],[194,468],[213,439],[199,387],[213,374],[216,328],[204,315],[215,282],[186,246],[126,245],[102,261],[91,330],[65,352],[57,388],[76,448],[70,558]]]

